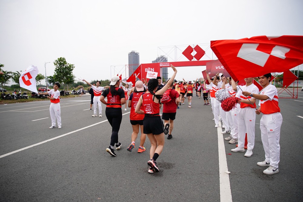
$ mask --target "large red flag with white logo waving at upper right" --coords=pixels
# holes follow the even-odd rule
[[[283,72],[303,63],[303,36],[255,36],[211,41],[211,49],[235,81]]]

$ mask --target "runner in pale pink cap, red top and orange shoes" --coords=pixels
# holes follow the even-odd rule
[[[141,137],[140,137],[140,146],[138,148],[138,153],[142,153],[145,151],[144,142],[146,139],[146,134],[143,133],[143,119],[144,114],[137,114],[135,113],[135,108],[137,106],[138,100],[142,94],[146,91],[144,88],[144,84],[142,81],[136,81],[134,92],[129,96],[128,107],[131,108],[131,113],[129,115],[130,122],[132,124],[132,143],[127,148],[127,151],[132,151],[135,148],[135,140],[138,137],[139,133],[139,126],[141,130]]]

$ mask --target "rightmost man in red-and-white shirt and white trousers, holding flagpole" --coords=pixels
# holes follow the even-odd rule
[[[256,114],[262,113],[260,120],[261,139],[265,151],[265,160],[258,162],[258,166],[269,166],[263,171],[264,174],[271,175],[279,172],[280,162],[280,130],[282,115],[278,103],[277,88],[270,84],[271,73],[258,77],[263,90],[260,94],[243,91],[245,96],[251,96],[260,100]]]

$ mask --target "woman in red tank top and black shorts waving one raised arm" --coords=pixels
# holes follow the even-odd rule
[[[147,137],[151,142],[149,152],[150,160],[147,162],[149,165],[149,173],[159,172],[156,160],[161,154],[164,146],[164,130],[159,115],[159,102],[161,95],[163,95],[168,87],[174,82],[177,74],[177,69],[173,65],[171,65],[171,68],[174,70],[174,74],[168,80],[167,84],[159,91],[156,92],[158,88],[157,79],[150,79],[148,81],[148,91],[140,97],[135,108],[136,113],[145,114],[143,119],[143,132],[147,134]],[[142,106],[144,110],[140,109]]]

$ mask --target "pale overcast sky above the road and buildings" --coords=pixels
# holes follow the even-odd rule
[[[65,57],[76,78],[110,79],[114,71],[125,75],[132,50],[140,63],[151,63],[163,47],[303,35],[302,10],[302,0],[0,0],[0,64],[5,71],[35,65],[45,75],[51,62],[49,76],[53,61]],[[216,59],[211,50],[206,54],[201,60]],[[197,78],[202,69],[180,67],[176,78]]]

